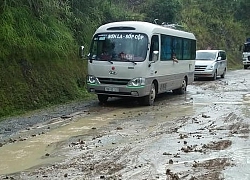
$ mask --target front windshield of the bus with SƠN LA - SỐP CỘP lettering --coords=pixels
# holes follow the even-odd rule
[[[93,37],[89,58],[99,61],[144,61],[148,37],[142,33],[102,33]]]

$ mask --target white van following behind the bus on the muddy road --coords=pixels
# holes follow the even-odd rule
[[[224,50],[197,50],[195,59],[195,78],[224,78],[227,72],[227,56]]]

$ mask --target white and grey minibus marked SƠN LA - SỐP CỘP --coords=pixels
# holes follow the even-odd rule
[[[196,38],[189,32],[140,21],[102,25],[88,55],[88,92],[101,103],[135,97],[143,105],[166,91],[183,94],[194,81],[195,54]]]

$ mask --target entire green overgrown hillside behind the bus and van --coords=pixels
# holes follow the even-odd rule
[[[178,23],[194,32],[197,49],[228,52],[241,68],[249,34],[247,0],[3,0],[0,2],[0,117],[89,97],[86,51],[104,23],[142,20]]]

